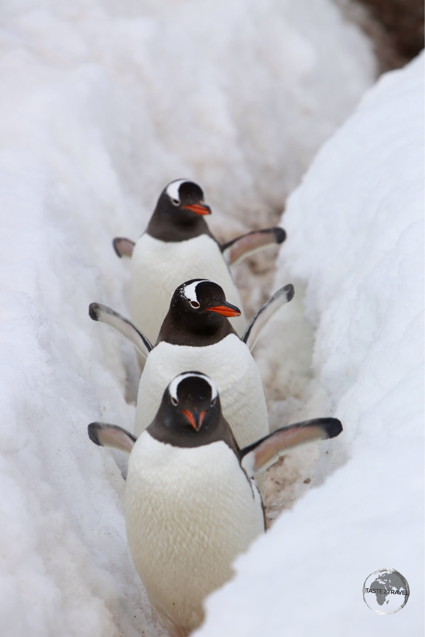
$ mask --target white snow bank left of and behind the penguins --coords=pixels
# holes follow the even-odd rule
[[[370,84],[370,47],[329,0],[1,12],[1,634],[160,635],[122,478],[87,437],[132,428],[134,354],[88,303],[128,315],[111,239],[136,238],[174,178],[199,180],[226,238],[264,224],[257,204],[281,206]]]

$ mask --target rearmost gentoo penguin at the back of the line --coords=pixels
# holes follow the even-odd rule
[[[202,277],[216,281],[230,303],[242,307],[228,264],[272,243],[282,243],[282,228],[254,231],[219,245],[209,230],[202,189],[188,179],[169,183],[162,191],[146,231],[136,243],[115,238],[119,257],[131,256],[130,318],[155,343],[172,293],[182,281]],[[242,336],[243,312],[232,321]],[[143,361],[140,361],[143,368]]]

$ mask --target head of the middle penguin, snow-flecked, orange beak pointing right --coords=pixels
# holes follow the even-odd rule
[[[207,279],[191,279],[172,295],[170,312],[176,324],[193,331],[216,329],[226,318],[239,317],[240,310],[226,301],[223,288]]]

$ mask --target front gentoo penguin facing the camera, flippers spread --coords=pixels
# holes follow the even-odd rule
[[[202,623],[206,596],[232,577],[235,557],[265,531],[253,474],[298,445],[341,431],[339,420],[309,420],[240,449],[215,383],[199,372],[172,380],[137,440],[117,426],[88,426],[97,445],[130,452],[127,540],[172,637],[186,637]]]

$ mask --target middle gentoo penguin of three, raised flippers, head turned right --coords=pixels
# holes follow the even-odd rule
[[[273,313],[293,297],[293,286],[286,285],[256,314]],[[241,340],[227,317],[240,310],[226,301],[223,288],[208,280],[193,279],[179,285],[172,295],[155,347],[136,327],[118,313],[97,303],[89,314],[115,327],[142,355],[147,356],[137,394],[134,433],[139,436],[158,411],[164,387],[184,369],[197,368],[213,378],[221,396],[223,415],[231,423],[240,447],[246,447],[268,434],[268,417],[263,385],[249,347]],[[256,320],[247,328],[247,340],[258,336]],[[264,497],[263,484],[259,483]]]

